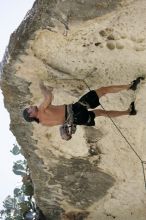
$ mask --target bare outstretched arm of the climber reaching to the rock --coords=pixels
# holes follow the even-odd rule
[[[44,95],[44,101],[40,105],[42,108],[47,108],[49,105],[51,105],[53,101],[53,88],[52,87],[46,87],[43,82],[40,82],[40,89],[42,94]]]

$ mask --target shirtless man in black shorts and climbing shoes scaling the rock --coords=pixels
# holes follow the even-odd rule
[[[143,80],[143,77],[138,77],[131,84],[128,85],[114,85],[108,87],[101,87],[96,90],[91,90],[82,96],[76,103],[72,104],[73,124],[94,126],[95,117],[118,117],[122,115],[136,115],[134,102],[125,111],[106,111],[102,109],[95,109],[100,106],[99,99],[107,93],[117,93],[122,90],[137,89],[137,85]],[[40,106],[30,106],[23,111],[23,117],[27,122],[37,122],[46,126],[63,125],[68,117],[67,105],[52,105],[53,94],[51,87],[46,87],[40,83],[40,89],[44,95],[44,100]],[[89,110],[90,109],[90,110]],[[93,109],[93,110],[91,110]]]

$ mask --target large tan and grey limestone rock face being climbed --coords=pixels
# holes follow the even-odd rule
[[[59,105],[77,101],[88,87],[146,76],[145,11],[145,0],[37,0],[11,35],[1,63],[4,102],[47,219],[145,219],[145,80],[135,93],[100,100],[107,110],[128,109],[135,100],[136,116],[113,121],[138,155],[108,117],[78,126],[68,142],[58,126],[22,118],[25,107],[42,100],[40,80],[54,88]]]

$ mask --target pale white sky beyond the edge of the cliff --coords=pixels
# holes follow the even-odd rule
[[[0,0],[0,61],[8,45],[10,34],[19,26],[34,0]],[[0,209],[8,195],[13,195],[15,187],[21,186],[21,178],[12,172],[13,162],[19,160],[10,150],[17,144],[9,130],[9,114],[4,108],[0,90]],[[21,158],[23,159],[23,158]]]

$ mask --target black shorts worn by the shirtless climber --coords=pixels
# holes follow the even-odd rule
[[[94,109],[99,105],[99,97],[94,90],[83,95],[78,102],[72,105],[74,124],[94,126],[95,113],[88,109]]]

